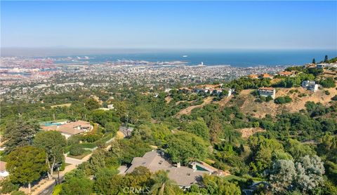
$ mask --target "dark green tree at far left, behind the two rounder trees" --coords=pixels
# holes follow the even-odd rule
[[[4,130],[5,153],[9,154],[15,147],[23,147],[32,144],[35,133],[40,129],[37,121],[25,121],[18,117],[8,122]]]

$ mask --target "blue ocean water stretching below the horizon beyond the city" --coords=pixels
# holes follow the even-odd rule
[[[206,66],[231,65],[233,67],[256,67],[256,66],[277,66],[277,65],[304,65],[337,56],[337,51],[332,50],[293,50],[293,51],[203,51],[203,52],[160,52],[160,53],[119,53],[102,55],[71,55],[72,60],[61,60],[56,63],[83,62],[89,64],[102,63],[117,60],[144,60],[149,62],[170,62],[183,61],[187,65],[199,65],[204,62]],[[61,56],[58,56],[61,57]],[[77,58],[79,57],[79,58]]]

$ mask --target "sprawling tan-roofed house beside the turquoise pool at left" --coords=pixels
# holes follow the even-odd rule
[[[93,126],[86,121],[74,121],[70,123],[50,123],[48,125],[41,126],[42,130],[57,130],[65,138],[69,138],[72,135],[86,133],[93,129]]]

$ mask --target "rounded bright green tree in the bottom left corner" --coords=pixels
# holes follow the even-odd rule
[[[28,184],[29,194],[32,182],[46,173],[46,152],[32,146],[18,147],[7,156],[6,170],[13,182]]]

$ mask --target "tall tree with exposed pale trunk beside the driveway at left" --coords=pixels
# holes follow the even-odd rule
[[[49,168],[49,180],[53,177],[53,170],[56,164],[62,163],[65,156],[65,146],[67,141],[65,136],[56,130],[41,131],[34,138],[34,146],[44,149],[46,152],[46,163]]]

